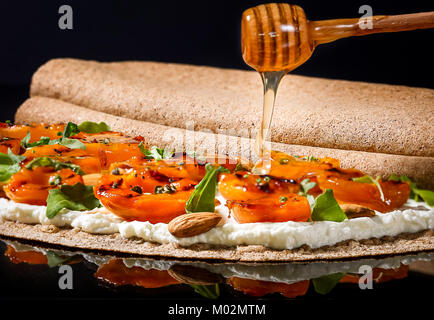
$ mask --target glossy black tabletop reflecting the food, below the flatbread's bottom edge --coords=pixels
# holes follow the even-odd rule
[[[194,281],[208,281],[211,290],[214,285],[210,283],[219,282],[220,293],[217,299],[211,299],[214,302],[339,301],[406,296],[424,299],[427,298],[424,289],[434,284],[434,261],[430,261],[433,253],[328,264],[210,264],[76,252],[11,239],[4,239],[0,248],[1,300],[207,301],[210,297],[195,292],[188,284]],[[59,267],[63,264],[71,266],[72,289],[59,287],[63,275]],[[354,278],[363,265],[374,268],[371,290],[361,290]],[[314,279],[337,273],[345,274],[346,278],[328,294],[316,292]],[[348,277],[354,283],[348,283]],[[347,283],[342,283],[345,279]]]

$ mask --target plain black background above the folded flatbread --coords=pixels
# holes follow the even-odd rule
[[[243,10],[266,1],[1,1],[0,103],[12,119],[31,75],[47,60],[154,60],[249,69],[241,57]],[[310,20],[434,10],[432,1],[303,1]],[[60,30],[59,7],[73,9]],[[342,39],[319,46],[294,71],[309,76],[433,88],[432,30]],[[259,81],[259,80],[258,80]]]

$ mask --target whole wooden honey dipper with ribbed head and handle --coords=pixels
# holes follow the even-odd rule
[[[244,11],[241,45],[244,61],[259,72],[289,72],[312,55],[321,43],[381,32],[434,27],[434,12],[373,16],[366,20],[336,19],[309,21],[302,8],[286,3],[269,3]]]

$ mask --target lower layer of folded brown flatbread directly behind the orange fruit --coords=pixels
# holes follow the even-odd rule
[[[221,150],[222,152],[227,152],[229,155],[241,155],[245,158],[249,158],[253,147],[252,140],[225,136],[227,146],[222,150],[219,149],[223,144],[222,141],[217,140],[216,135],[212,133],[186,132],[155,123],[130,120],[79,107],[60,100],[43,97],[34,97],[25,101],[18,109],[15,120],[17,123],[81,122],[86,120],[105,121],[113,130],[131,135],[143,135],[149,145],[158,145],[180,150],[184,148],[183,139],[185,136],[187,140],[190,140],[191,137],[194,136],[196,145],[204,150],[211,150],[212,153],[215,153],[215,150]],[[170,137],[167,137],[167,133],[169,133]],[[169,138],[169,140],[166,140],[166,138]],[[187,141],[187,143],[189,142],[191,141]],[[273,143],[272,148],[289,154],[335,157],[341,160],[343,167],[356,167],[374,176],[388,176],[391,173],[408,175],[413,178],[420,187],[434,187],[434,157],[391,155],[282,143]]]

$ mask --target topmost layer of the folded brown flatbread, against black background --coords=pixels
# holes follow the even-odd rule
[[[33,76],[31,95],[172,127],[194,121],[196,130],[243,136],[256,130],[262,112],[256,72],[167,63],[51,60]],[[434,90],[287,75],[271,139],[434,157],[433,121]]]

